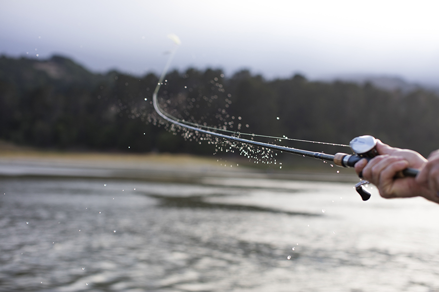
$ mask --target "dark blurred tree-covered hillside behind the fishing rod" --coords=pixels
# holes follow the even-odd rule
[[[212,69],[174,71],[166,80],[160,96],[169,99],[167,110],[208,126],[342,144],[371,134],[424,155],[439,148],[439,97],[428,91],[310,82],[301,75],[265,80],[248,71],[224,77]],[[0,139],[61,149],[212,153],[211,145],[153,125],[157,82],[152,73],[94,74],[62,56],[2,56]]]

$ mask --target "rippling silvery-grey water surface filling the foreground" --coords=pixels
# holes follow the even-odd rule
[[[0,191],[1,291],[439,291],[439,207],[420,199],[250,179]]]

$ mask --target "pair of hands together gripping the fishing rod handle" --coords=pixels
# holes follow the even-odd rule
[[[369,163],[362,159],[355,164],[357,174],[375,184],[381,197],[423,197],[439,203],[439,150],[430,154],[428,160],[418,152],[388,146],[378,140],[379,156]],[[416,178],[395,178],[407,167],[418,168]]]

